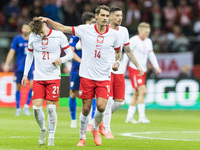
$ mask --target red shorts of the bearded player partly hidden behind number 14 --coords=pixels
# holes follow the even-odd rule
[[[125,81],[123,74],[111,73],[110,96],[113,99],[124,99]]]

